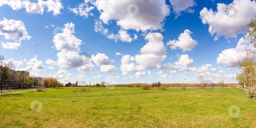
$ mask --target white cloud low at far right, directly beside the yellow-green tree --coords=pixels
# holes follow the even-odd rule
[[[245,57],[244,50],[249,47],[250,41],[241,37],[235,48],[223,50],[217,58],[217,64],[225,64],[226,70],[235,70],[238,61]]]

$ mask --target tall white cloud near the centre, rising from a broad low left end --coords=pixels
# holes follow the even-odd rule
[[[141,54],[124,55],[121,59],[120,69],[123,72],[142,71],[146,69],[155,69],[156,65],[162,62],[167,56],[166,49],[162,41],[155,40],[154,34],[149,33],[145,37],[148,40],[147,44],[140,49]],[[136,65],[135,61],[138,65]]]

